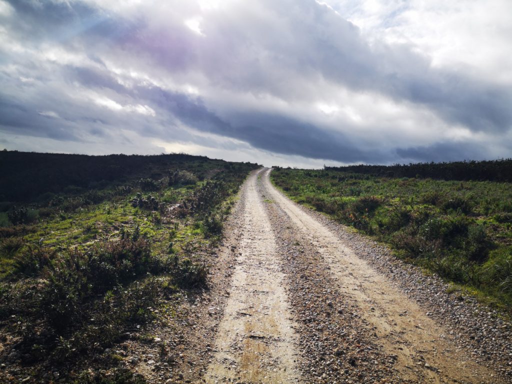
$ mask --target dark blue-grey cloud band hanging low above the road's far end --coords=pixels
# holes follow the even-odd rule
[[[339,132],[319,127],[281,115],[265,113],[241,113],[233,125],[209,111],[198,98],[164,91],[159,88],[133,90],[154,105],[171,112],[187,125],[199,130],[246,141],[255,148],[271,152],[300,155],[313,159],[336,161],[378,161],[382,153],[361,151],[351,145],[349,138]]]

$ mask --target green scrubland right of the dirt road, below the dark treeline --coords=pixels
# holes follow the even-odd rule
[[[458,173],[460,164],[464,163],[455,163]],[[482,165],[466,164],[471,169]],[[501,167],[504,162],[497,164]],[[512,162],[507,164],[507,172],[501,168],[500,172],[512,175]],[[442,166],[449,169],[446,163]],[[277,167],[271,178],[296,202],[390,244],[400,259],[434,271],[510,311],[509,182],[382,177],[371,174],[373,171],[354,173],[353,168]],[[414,169],[416,172],[418,167]],[[444,173],[446,176],[449,171]]]

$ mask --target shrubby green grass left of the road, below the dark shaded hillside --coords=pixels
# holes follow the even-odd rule
[[[207,288],[208,250],[257,165],[192,160],[2,203],[0,336],[19,341],[25,365],[69,366],[153,321],[150,308],[176,313],[173,297]]]

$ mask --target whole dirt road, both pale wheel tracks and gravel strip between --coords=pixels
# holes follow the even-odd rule
[[[230,295],[203,381],[507,382],[269,172],[243,187]]]

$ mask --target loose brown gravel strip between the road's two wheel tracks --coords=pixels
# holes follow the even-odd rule
[[[329,288],[336,282],[316,249],[297,238],[293,223],[278,205],[268,204],[268,214],[280,240],[292,314],[300,324],[295,331],[304,381],[406,382],[393,368],[396,356],[382,351],[354,300]]]

